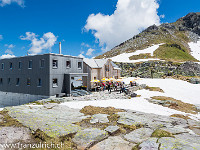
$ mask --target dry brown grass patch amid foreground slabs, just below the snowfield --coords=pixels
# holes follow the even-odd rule
[[[112,115],[117,112],[124,112],[124,110],[116,109],[114,107],[95,107],[95,106],[85,106],[80,110],[81,113],[85,115],[94,115],[94,114],[108,114]]]

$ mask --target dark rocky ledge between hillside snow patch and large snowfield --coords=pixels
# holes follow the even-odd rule
[[[199,76],[200,65],[194,62],[173,63],[163,61],[148,61],[139,64],[117,63],[122,70],[122,76],[141,78],[162,78],[167,76]],[[196,80],[191,80],[191,83]]]

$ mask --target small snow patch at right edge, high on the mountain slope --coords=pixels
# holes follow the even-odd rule
[[[190,42],[188,43],[191,50],[191,55],[200,61],[200,41],[197,41],[197,43]]]

